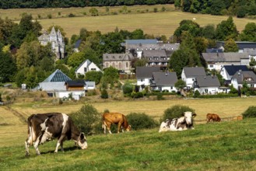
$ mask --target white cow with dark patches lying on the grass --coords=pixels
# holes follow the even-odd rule
[[[194,129],[193,117],[196,116],[192,112],[184,112],[183,117],[167,119],[160,125],[159,132],[163,131],[184,131],[188,129]]]

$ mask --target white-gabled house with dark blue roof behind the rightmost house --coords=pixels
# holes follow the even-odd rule
[[[219,74],[223,76],[223,79],[231,80],[233,75],[238,71],[246,72],[249,69],[246,65],[224,65]]]

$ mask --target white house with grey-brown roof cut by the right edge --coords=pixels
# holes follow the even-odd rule
[[[243,87],[244,82],[247,83],[248,87],[256,88],[256,75],[251,71],[238,71],[232,79],[231,84],[235,89]]]

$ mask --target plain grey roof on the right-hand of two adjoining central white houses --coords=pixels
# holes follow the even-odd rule
[[[177,82],[176,72],[153,72],[156,86],[174,86]]]

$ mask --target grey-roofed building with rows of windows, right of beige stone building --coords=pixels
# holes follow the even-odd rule
[[[165,70],[170,57],[167,57],[167,52],[165,50],[144,50],[142,52],[142,59],[148,61],[146,66],[160,66]]]

